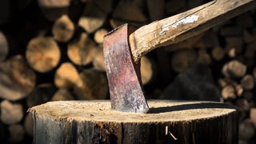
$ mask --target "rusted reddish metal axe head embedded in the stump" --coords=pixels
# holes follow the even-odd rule
[[[149,108],[142,90],[140,62],[134,62],[128,41],[134,30],[134,26],[125,24],[105,36],[106,75],[113,110],[146,113]]]

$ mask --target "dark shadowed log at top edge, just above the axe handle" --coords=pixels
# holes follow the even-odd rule
[[[165,16],[164,0],[146,0],[148,13],[150,14],[150,22],[160,20]]]

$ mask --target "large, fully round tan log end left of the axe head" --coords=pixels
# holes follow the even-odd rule
[[[50,37],[33,38],[26,46],[27,61],[40,73],[53,70],[58,65],[60,57],[58,44]]]

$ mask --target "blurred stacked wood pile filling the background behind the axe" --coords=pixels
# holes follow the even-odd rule
[[[126,22],[143,26],[205,2],[1,1],[0,141],[32,142],[33,122],[26,113],[31,106],[109,98],[102,52],[108,31]],[[255,18],[251,10],[147,54],[142,58],[146,97],[234,104],[240,112],[239,142],[254,143]]]

